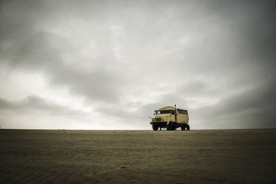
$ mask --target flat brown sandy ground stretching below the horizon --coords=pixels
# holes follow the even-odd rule
[[[276,130],[0,130],[0,183],[276,183]]]

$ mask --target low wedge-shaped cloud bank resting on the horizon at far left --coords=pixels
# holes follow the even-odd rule
[[[88,127],[93,114],[81,112],[39,96],[28,96],[19,101],[0,99],[0,122],[6,128],[68,129]],[[80,122],[81,121],[81,122]],[[76,126],[77,125],[77,126]]]

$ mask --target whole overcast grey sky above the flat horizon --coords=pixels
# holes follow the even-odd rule
[[[0,126],[276,127],[275,1],[1,1]]]

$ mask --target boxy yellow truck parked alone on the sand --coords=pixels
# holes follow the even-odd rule
[[[190,130],[188,111],[176,108],[176,105],[155,110],[154,115],[154,118],[150,117],[152,130],[161,130],[162,127],[166,127],[166,130],[176,130],[177,127],[181,127],[181,130]]]

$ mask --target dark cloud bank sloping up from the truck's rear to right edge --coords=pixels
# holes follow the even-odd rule
[[[209,128],[275,127],[274,83],[263,83],[227,96],[215,105],[198,108],[192,111],[192,119],[206,122]]]

